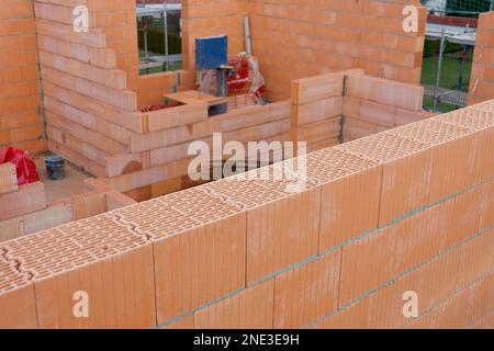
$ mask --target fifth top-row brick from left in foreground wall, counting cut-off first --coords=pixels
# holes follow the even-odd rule
[[[321,184],[319,252],[378,226],[382,168],[336,149],[307,157],[308,179]]]

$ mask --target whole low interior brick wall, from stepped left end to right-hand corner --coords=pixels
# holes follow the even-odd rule
[[[357,73],[355,79],[348,78]],[[355,89],[360,86],[364,89]],[[138,190],[143,194],[139,199],[162,195],[187,188],[183,179],[189,178],[188,168],[195,157],[188,155],[193,140],[203,140],[212,148],[213,133],[222,133],[223,143],[295,140],[306,141],[308,150],[316,150],[339,144],[344,136],[356,137],[352,118],[367,121],[370,126],[366,125],[367,135],[378,132],[372,126],[383,120],[382,110],[392,111],[393,123],[384,124],[381,129],[424,118],[422,91],[419,87],[369,77],[356,69],[293,81],[290,100],[232,107],[228,113],[214,117],[207,117],[206,106],[201,102],[150,112],[142,116],[148,132],[132,134],[130,152],[105,159],[104,181],[121,192]],[[348,107],[345,112],[351,113],[343,124],[347,99],[358,105],[357,110],[362,104],[363,115],[360,110],[353,113],[356,109]],[[143,160],[146,166],[133,167],[143,165]]]

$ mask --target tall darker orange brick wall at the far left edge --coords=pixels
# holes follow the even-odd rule
[[[46,148],[38,114],[40,77],[33,3],[5,0],[0,8],[0,147]]]

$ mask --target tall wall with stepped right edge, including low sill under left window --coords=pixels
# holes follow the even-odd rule
[[[76,33],[72,10],[89,9]],[[139,77],[135,1],[34,1],[48,147],[97,177],[145,133],[138,109],[189,83],[187,72]]]

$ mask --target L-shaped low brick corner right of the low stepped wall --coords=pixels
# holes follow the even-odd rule
[[[428,117],[424,89],[350,69],[292,81],[291,138],[310,151]]]

